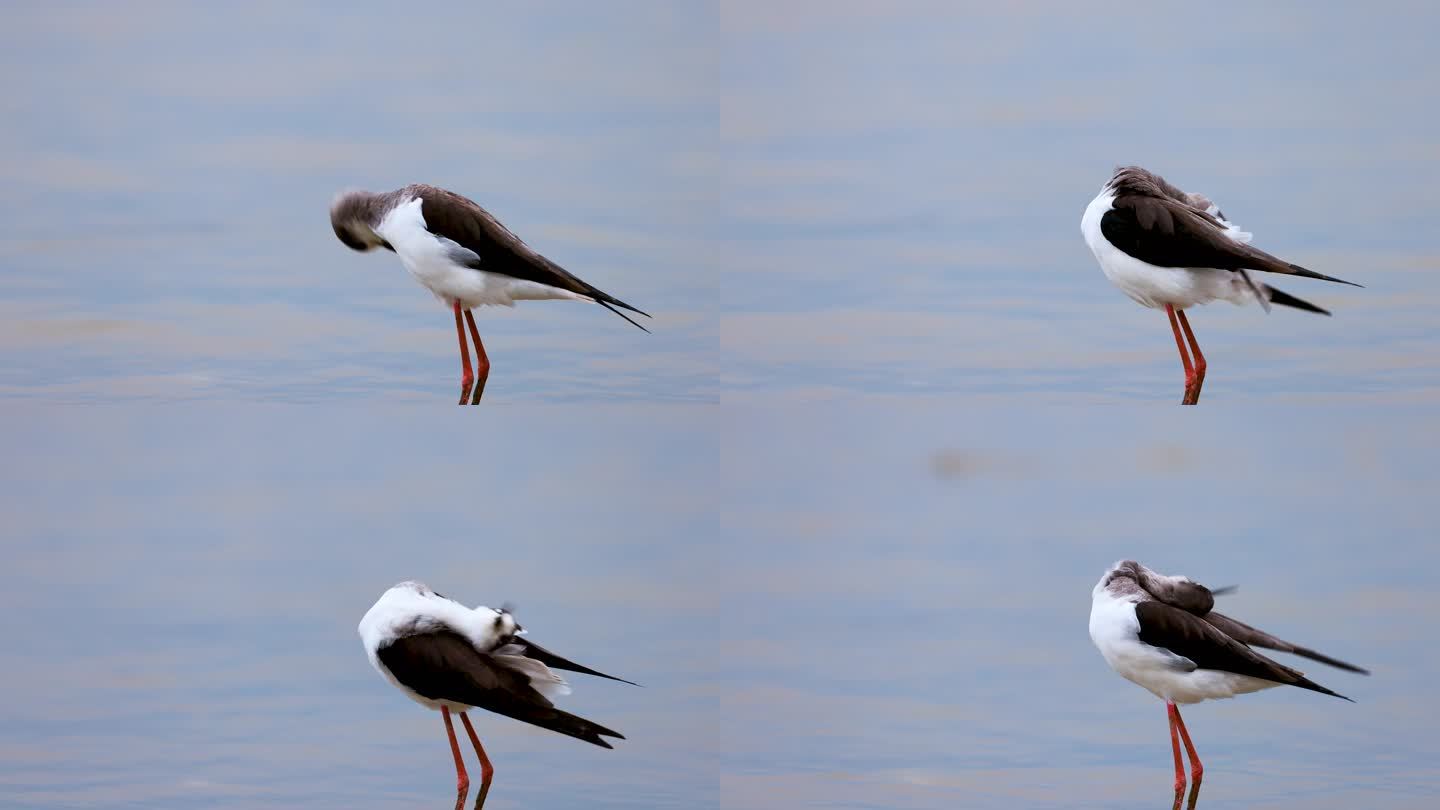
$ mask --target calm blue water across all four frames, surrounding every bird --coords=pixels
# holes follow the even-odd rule
[[[1188,709],[1201,807],[1434,804],[1437,23],[12,4],[0,806],[449,806],[354,631],[422,578],[645,685],[575,679],[616,751],[477,713],[491,809],[1168,807],[1086,634],[1123,556],[1375,672]],[[1079,235],[1117,163],[1367,288],[1197,311],[1181,412]],[[325,222],[412,180],[655,334],[484,311],[445,415],[449,314]]]

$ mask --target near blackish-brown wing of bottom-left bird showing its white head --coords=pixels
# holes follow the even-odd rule
[[[619,732],[556,709],[530,686],[528,677],[497,664],[454,630],[397,638],[380,647],[377,657],[396,680],[432,700],[478,706],[602,748],[612,748],[602,736],[625,739]]]

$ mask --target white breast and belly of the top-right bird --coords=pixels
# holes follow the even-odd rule
[[[1135,303],[1161,308],[1171,304],[1178,308],[1208,304],[1221,300],[1231,304],[1254,301],[1254,294],[1240,274],[1228,270],[1155,267],[1143,262],[1112,245],[1100,232],[1100,218],[1110,210],[1115,195],[1110,190],[1090,200],[1080,218],[1080,233],[1090,245],[1104,277],[1129,295]],[[1238,233],[1238,229],[1236,229]],[[1248,236],[1248,233],[1244,233]]]

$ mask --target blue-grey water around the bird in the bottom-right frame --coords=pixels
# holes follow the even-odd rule
[[[742,409],[720,473],[744,594],[716,641],[726,806],[1168,807],[1164,703],[1086,631],[1122,558],[1237,584],[1228,613],[1374,664],[1355,705],[1189,708],[1207,806],[1426,804],[1440,748],[1407,706],[1440,675],[1410,640],[1440,608],[1427,412]]]

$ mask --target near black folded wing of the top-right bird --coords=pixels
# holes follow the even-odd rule
[[[1168,197],[1120,195],[1100,218],[1100,233],[1126,255],[1155,267],[1263,270],[1359,287],[1236,242],[1208,213]]]

